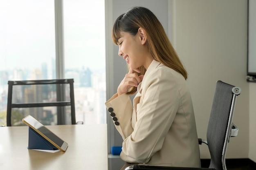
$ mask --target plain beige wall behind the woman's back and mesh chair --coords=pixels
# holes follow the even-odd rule
[[[247,1],[173,2],[173,43],[189,72],[187,82],[193,97],[198,136],[206,139],[215,82],[222,80],[240,86],[242,92],[237,98],[233,120],[239,132],[237,137],[230,139],[227,158],[248,158]],[[201,158],[209,158],[207,147],[200,146],[200,151]]]

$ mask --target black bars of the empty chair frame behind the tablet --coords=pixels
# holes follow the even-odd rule
[[[63,102],[51,103],[27,103],[27,104],[12,104],[13,86],[15,85],[38,85],[38,84],[70,84],[70,101],[63,101],[61,95],[64,91],[61,86],[56,89],[57,99]],[[75,103],[74,103],[74,79],[50,79],[50,80],[27,80],[27,81],[8,81],[8,99],[7,99],[7,126],[11,126],[11,109],[12,108],[31,108],[31,107],[46,107],[46,106],[71,106],[71,123],[76,124]],[[57,112],[58,113],[58,112]],[[64,124],[58,116],[58,124]]]

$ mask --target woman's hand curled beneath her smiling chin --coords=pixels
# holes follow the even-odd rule
[[[128,89],[131,88],[132,86],[137,87],[138,84],[142,81],[143,77],[144,75],[138,76],[137,73],[134,73],[134,71],[130,69],[129,73],[125,75],[124,79],[119,84],[117,88],[117,94],[121,95],[123,93],[126,93]]]

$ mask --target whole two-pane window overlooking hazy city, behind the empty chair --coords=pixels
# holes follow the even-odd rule
[[[61,78],[74,78],[76,121],[84,123],[106,123],[104,2],[63,0]],[[0,1],[0,125],[6,125],[8,80],[56,78],[54,10],[52,0]]]

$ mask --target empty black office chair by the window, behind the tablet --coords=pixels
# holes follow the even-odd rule
[[[7,126],[32,115],[44,125],[76,123],[74,79],[8,81]]]

